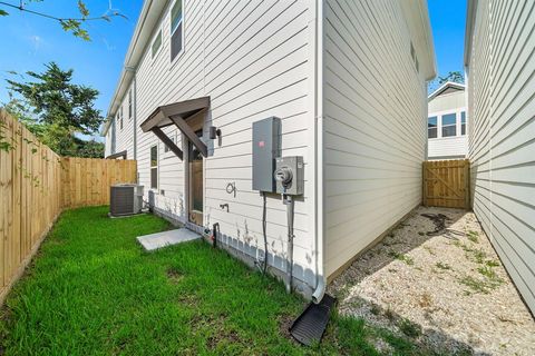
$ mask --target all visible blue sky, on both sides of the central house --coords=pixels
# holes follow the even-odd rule
[[[28,8],[57,17],[78,17],[76,3],[76,0],[43,0]],[[89,23],[91,41],[86,42],[62,31],[52,20],[0,6],[10,12],[0,17],[0,103],[8,98],[7,71],[40,72],[43,63],[56,61],[64,69],[75,70],[75,82],[100,91],[96,105],[106,113],[143,0],[86,0],[86,3],[93,16],[104,13],[111,4],[128,20],[115,18],[110,23]],[[466,0],[428,0],[428,7],[439,75],[463,71]]]

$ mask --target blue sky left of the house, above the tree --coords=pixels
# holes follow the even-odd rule
[[[19,0],[4,0],[17,3]],[[17,9],[7,10],[10,16],[0,17],[0,105],[7,101],[7,73],[41,72],[43,63],[56,61],[62,69],[74,69],[74,81],[100,91],[97,108],[106,113],[118,80],[124,57],[142,9],[143,0],[86,0],[91,16],[100,16],[109,3],[128,20],[114,18],[111,22],[94,21],[86,27],[90,42],[65,32],[54,20],[43,19]],[[28,9],[57,17],[79,17],[76,0],[43,0],[31,2]],[[8,41],[6,41],[8,39]]]

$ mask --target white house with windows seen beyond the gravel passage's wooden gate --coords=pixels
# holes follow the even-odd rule
[[[428,98],[427,158],[459,159],[468,155],[465,86],[448,81]]]

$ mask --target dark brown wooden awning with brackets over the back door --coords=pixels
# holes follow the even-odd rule
[[[195,135],[195,131],[189,127],[187,120],[194,120],[198,116],[206,117],[210,109],[210,97],[202,97],[197,99],[191,99],[169,103],[158,107],[150,116],[143,121],[140,128],[143,132],[152,131],[156,135],[162,142],[164,142],[171,151],[173,151],[179,159],[183,159],[183,151],[173,142],[167,135],[162,131],[162,128],[175,125],[182,134],[195,146],[196,149],[207,157],[208,149],[206,145]]]

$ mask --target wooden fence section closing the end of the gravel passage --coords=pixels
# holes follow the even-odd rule
[[[470,162],[468,159],[424,162],[425,206],[470,208]]]

